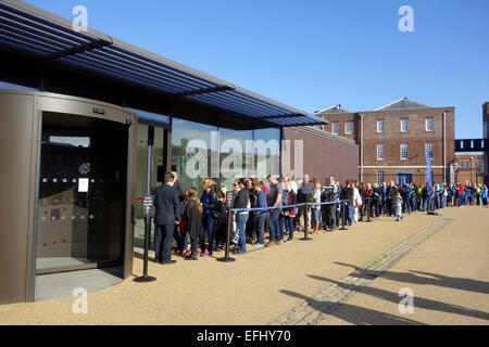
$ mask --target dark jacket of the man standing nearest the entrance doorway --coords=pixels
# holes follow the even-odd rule
[[[180,220],[180,200],[177,190],[168,184],[160,185],[153,190],[154,223],[159,226],[171,226]]]

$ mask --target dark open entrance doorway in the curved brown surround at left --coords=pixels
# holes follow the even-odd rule
[[[128,127],[42,113],[36,274],[123,266]]]

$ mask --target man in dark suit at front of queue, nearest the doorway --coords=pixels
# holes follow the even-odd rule
[[[174,264],[172,260],[172,243],[175,224],[180,222],[180,200],[173,188],[175,176],[166,172],[164,184],[153,190],[154,206],[154,253],[160,264]]]

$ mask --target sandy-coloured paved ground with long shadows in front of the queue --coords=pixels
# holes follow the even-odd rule
[[[279,324],[300,307],[308,314],[287,324],[489,324],[488,222],[489,208],[449,208],[298,234],[231,264],[150,262],[155,282],[90,293],[87,314],[73,313],[73,298],[4,305],[0,324]],[[399,313],[402,287],[414,293],[412,314]]]

